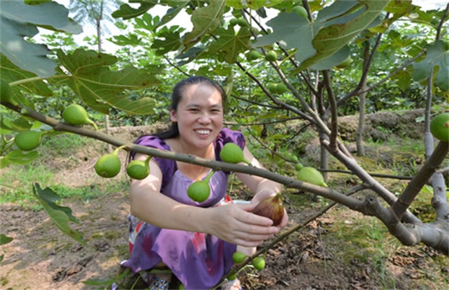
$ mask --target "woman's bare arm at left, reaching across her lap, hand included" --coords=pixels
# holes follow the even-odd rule
[[[145,160],[137,154],[135,159]],[[250,205],[225,205],[211,208],[189,206],[160,193],[162,171],[150,161],[150,175],[131,182],[131,213],[140,220],[164,229],[210,233],[218,238],[256,247],[271,238],[278,229],[272,221],[249,213]]]

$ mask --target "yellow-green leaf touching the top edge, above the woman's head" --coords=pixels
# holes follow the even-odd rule
[[[210,32],[216,30],[220,26],[222,14],[226,8],[225,0],[213,0],[209,5],[202,8],[197,8],[192,13],[191,21],[193,23],[193,30],[184,38],[184,50],[187,50],[198,43]]]

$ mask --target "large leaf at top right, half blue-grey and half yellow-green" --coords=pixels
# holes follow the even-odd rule
[[[334,55],[356,35],[370,27],[388,0],[336,1],[320,12],[314,22],[296,14],[280,13],[267,25],[273,33],[260,37],[254,46],[267,46],[274,42],[291,49],[300,61],[298,72]]]

